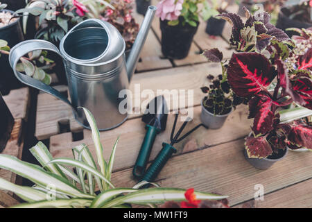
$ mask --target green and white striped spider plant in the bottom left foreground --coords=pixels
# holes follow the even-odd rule
[[[53,158],[46,146],[39,142],[31,148],[31,153],[42,167],[10,155],[0,155],[0,168],[12,171],[35,183],[33,187],[23,187],[0,178],[0,189],[12,191],[26,201],[15,207],[129,207],[129,204],[156,207],[155,204],[165,203],[168,200],[186,200],[184,189],[161,187],[139,189],[148,183],[145,181],[139,182],[132,188],[114,187],[111,176],[118,139],[109,161],[106,162],[96,121],[89,110],[85,108],[83,110],[92,129],[96,160],[85,144],[74,147],[73,159],[70,159]],[[75,168],[76,172],[67,166]],[[99,194],[95,190],[96,185]],[[204,192],[194,194],[198,200],[227,198],[227,196]]]

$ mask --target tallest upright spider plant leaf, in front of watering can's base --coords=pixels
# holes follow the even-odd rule
[[[98,157],[98,165],[100,166],[101,173],[104,176],[106,176],[105,166],[107,165],[107,163],[105,162],[104,156],[103,156],[103,146],[100,141],[100,132],[98,131],[98,127],[96,126],[96,121],[92,113],[86,108],[83,108],[83,111],[85,112],[85,116],[87,117],[87,121],[92,130],[92,139],[94,142],[94,146],[96,148],[96,156]],[[105,182],[102,182],[103,187],[105,187]]]

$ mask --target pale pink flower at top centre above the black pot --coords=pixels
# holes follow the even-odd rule
[[[176,1],[176,2],[175,2]],[[162,0],[157,4],[156,15],[164,21],[164,19],[172,21],[177,20],[181,15],[182,4],[184,0]]]

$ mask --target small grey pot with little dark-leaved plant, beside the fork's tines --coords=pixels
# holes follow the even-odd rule
[[[229,112],[227,114],[215,115],[215,114],[209,112],[205,108],[205,106],[202,104],[202,102],[201,102],[201,105],[202,105],[202,112],[200,114],[200,121],[202,121],[202,123],[205,126],[207,126],[209,129],[221,128],[224,125],[225,120],[227,119],[229,114],[233,111],[233,109],[232,109],[231,112]]]

